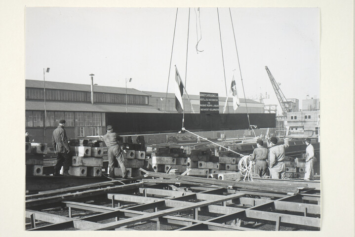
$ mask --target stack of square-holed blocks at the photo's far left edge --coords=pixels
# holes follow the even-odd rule
[[[43,175],[43,158],[47,154],[47,144],[26,142],[26,176]]]

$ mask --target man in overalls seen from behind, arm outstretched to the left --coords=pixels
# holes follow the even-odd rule
[[[123,141],[123,139],[116,132],[114,132],[113,126],[107,125],[106,130],[107,130],[106,135],[102,136],[102,140],[105,142],[106,146],[108,147],[107,156],[109,158],[110,177],[115,178],[115,158],[116,158],[118,161],[118,165],[122,171],[122,178],[127,178],[127,170],[124,164],[122,149],[119,144],[119,141]]]

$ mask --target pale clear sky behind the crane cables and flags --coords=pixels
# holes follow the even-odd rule
[[[318,8],[231,8],[234,28],[229,8],[218,8],[223,60],[217,8],[190,8],[189,35],[189,8],[179,8],[173,37],[176,10],[27,7],[26,79],[43,80],[49,67],[48,81],[89,84],[92,73],[98,85],[124,87],[132,78],[128,88],[173,93],[176,65],[189,94],[226,96],[235,72],[239,97],[243,82],[246,98],[267,93],[264,103],[280,113],[268,66],[300,108],[307,95],[319,98]]]

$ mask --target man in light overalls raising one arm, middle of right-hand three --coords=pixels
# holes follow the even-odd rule
[[[285,169],[285,149],[288,148],[288,138],[285,138],[284,144],[276,145],[277,138],[270,138],[270,149],[269,149],[269,168],[270,175],[272,179],[284,179],[286,178],[286,169]]]

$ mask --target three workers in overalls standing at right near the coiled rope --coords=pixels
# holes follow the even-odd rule
[[[306,166],[304,180],[314,180],[313,164],[316,162],[314,148],[311,139],[306,138]],[[277,138],[271,137],[268,141],[268,148],[263,147],[264,142],[261,139],[256,141],[257,148],[254,149],[250,160],[255,161],[256,173],[261,178],[271,177],[272,179],[285,179],[285,149],[289,147],[288,138],[284,144],[277,145]],[[270,171],[270,176],[269,176]]]

